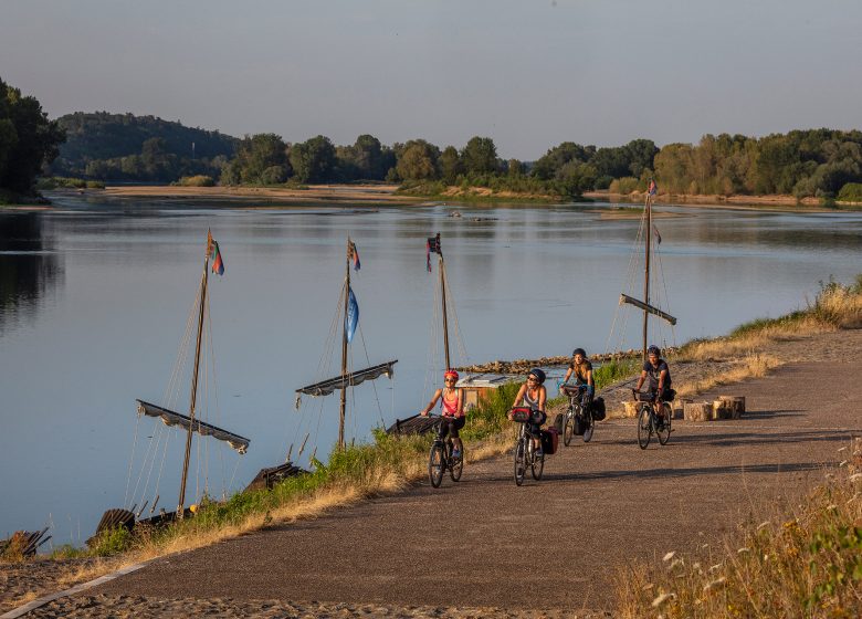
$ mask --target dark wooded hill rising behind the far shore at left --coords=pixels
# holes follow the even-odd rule
[[[172,181],[218,177],[238,139],[155,116],[75,112],[57,118],[66,143],[50,167],[55,176],[101,180]],[[193,145],[193,146],[192,146]]]

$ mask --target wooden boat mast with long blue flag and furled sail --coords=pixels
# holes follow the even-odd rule
[[[354,338],[354,334],[359,325],[359,305],[354,295],[354,291],[350,287],[350,265],[353,264],[356,271],[359,271],[359,252],[356,249],[356,244],[350,241],[350,237],[347,237],[347,260],[345,263],[345,276],[344,276],[344,318],[341,324],[341,373],[327,380],[315,382],[314,385],[307,385],[296,389],[297,394],[297,408],[303,394],[308,396],[328,396],[336,389],[340,389],[340,406],[338,415],[338,449],[345,449],[345,436],[344,426],[347,411],[347,388],[355,385],[360,385],[366,380],[374,380],[380,376],[386,375],[387,378],[391,378],[393,374],[393,366],[398,363],[398,359],[378,364],[376,366],[367,367],[357,371],[348,371],[347,367],[347,345]],[[306,437],[307,439],[307,437]],[[304,447],[303,441],[303,447]],[[302,449],[299,450],[302,451]]]

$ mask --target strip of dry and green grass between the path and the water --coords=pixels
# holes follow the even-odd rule
[[[848,332],[842,329],[859,327],[862,327],[862,283],[851,286],[830,284],[807,311],[777,319],[756,321],[726,337],[683,347],[672,358],[674,384],[683,397],[717,385],[765,376],[782,365],[799,360],[810,365],[823,359],[841,359],[852,354],[859,339],[858,331],[853,332],[853,337],[848,337]],[[613,385],[600,388],[607,390],[605,396],[609,407],[616,401],[611,394],[618,396],[620,402],[627,397],[624,389],[613,389]],[[505,406],[506,402],[501,403],[502,408]],[[559,407],[561,402],[558,401],[551,411],[559,410]],[[501,422],[500,410],[487,413],[494,417],[493,421]],[[474,432],[467,438],[467,444],[474,445],[467,451],[472,457],[471,466],[504,453],[511,445],[506,430],[483,437],[484,423],[487,422],[471,422],[471,431]],[[487,423],[487,432],[490,428]],[[483,441],[481,447],[479,438]],[[288,484],[284,493],[280,490],[278,493],[249,495],[239,499],[239,504],[233,505],[234,511],[222,516],[219,516],[219,507],[209,515],[204,510],[201,514],[207,515],[206,518],[196,516],[159,538],[141,541],[137,547],[116,558],[91,558],[83,564],[81,559],[4,564],[0,566],[0,610],[124,565],[208,546],[270,528],[277,523],[284,526],[316,518],[335,507],[356,504],[362,499],[398,494],[424,478],[427,439],[385,440],[378,445],[360,445],[357,449],[359,451],[348,459],[336,459],[329,463],[328,469],[335,474],[326,476],[325,472],[318,472],[308,480],[292,482],[299,484],[294,489],[298,492],[287,492],[291,490]]]

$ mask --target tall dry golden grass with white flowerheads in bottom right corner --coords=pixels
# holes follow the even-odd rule
[[[854,448],[795,514],[751,522],[715,552],[620,573],[620,617],[862,616],[862,439]]]

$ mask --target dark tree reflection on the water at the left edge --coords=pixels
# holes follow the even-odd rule
[[[32,319],[63,283],[63,267],[41,213],[0,216],[0,332]]]

